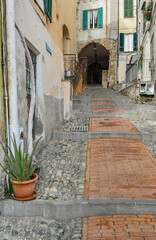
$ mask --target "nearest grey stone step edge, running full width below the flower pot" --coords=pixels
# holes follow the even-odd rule
[[[76,200],[56,202],[33,200],[2,202],[4,217],[44,217],[53,220],[67,220],[105,215],[156,215],[155,200]]]

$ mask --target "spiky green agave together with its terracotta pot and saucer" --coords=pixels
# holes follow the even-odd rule
[[[0,163],[3,170],[9,175],[13,185],[14,198],[20,201],[27,201],[35,198],[37,193],[34,191],[38,175],[34,173],[37,164],[32,165],[33,155],[41,137],[35,143],[32,153],[21,151],[21,144],[17,146],[15,135],[12,138],[13,151],[8,147],[8,152],[3,143],[0,144],[5,153],[5,166]]]

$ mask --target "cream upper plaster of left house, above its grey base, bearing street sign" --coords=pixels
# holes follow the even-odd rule
[[[16,0],[16,23],[22,29],[24,36],[42,55],[42,86],[46,95],[61,99],[60,86],[63,78],[62,52],[45,28],[40,17],[28,0]],[[46,42],[51,48],[51,56],[45,48]],[[45,81],[46,79],[46,81]]]

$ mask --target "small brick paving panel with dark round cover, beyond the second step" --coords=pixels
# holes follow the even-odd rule
[[[90,118],[90,132],[136,133],[136,128],[128,119],[121,118]]]

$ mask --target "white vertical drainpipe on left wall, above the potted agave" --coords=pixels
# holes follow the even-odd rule
[[[10,137],[13,133],[15,134],[17,144],[19,144],[14,6],[14,0],[6,0],[9,132]],[[12,143],[10,146],[12,149]]]

